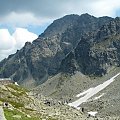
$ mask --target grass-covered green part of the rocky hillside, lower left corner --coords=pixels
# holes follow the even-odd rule
[[[55,120],[47,114],[39,113],[39,109],[35,108],[34,98],[20,86],[14,84],[1,86],[0,94],[0,104],[7,102],[9,105],[3,108],[7,120]],[[31,105],[34,107],[30,107]]]

